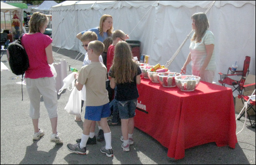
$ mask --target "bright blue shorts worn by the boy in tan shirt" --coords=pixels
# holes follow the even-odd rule
[[[100,121],[101,118],[108,117],[110,113],[109,103],[103,106],[86,106],[84,119]]]

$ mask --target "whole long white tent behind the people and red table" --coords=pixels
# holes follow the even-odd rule
[[[53,45],[83,51],[76,35],[98,27],[103,14],[113,17],[114,30],[129,34],[129,40],[141,42],[140,53],[150,55],[150,64],[165,65],[191,32],[191,16],[205,12],[209,0],[67,0],[52,7]],[[216,1],[208,11],[210,28],[215,35],[217,73],[226,73],[236,62],[242,70],[246,55],[251,56],[250,73],[255,74],[256,10],[254,0]],[[190,35],[191,37],[192,35]],[[189,54],[190,39],[181,48],[173,63],[172,72],[180,72]],[[187,67],[191,74],[191,63]]]

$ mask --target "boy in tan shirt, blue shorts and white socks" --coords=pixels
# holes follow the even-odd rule
[[[93,121],[99,121],[106,142],[106,146],[101,147],[100,151],[105,153],[108,157],[113,157],[111,131],[107,123],[107,117],[110,115],[108,92],[105,84],[107,79],[107,69],[98,59],[99,55],[102,54],[103,49],[104,44],[100,41],[91,41],[89,43],[87,54],[91,63],[83,66],[79,75],[76,77],[77,89],[80,91],[84,84],[86,87],[86,109],[81,142],[75,145],[68,144],[67,148],[71,152],[85,155],[90,126]]]

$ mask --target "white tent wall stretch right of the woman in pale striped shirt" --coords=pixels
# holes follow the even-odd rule
[[[246,12],[245,12],[246,11]],[[217,72],[227,73],[232,64],[238,65],[237,70],[243,70],[245,56],[251,56],[250,74],[255,75],[255,5],[244,4],[235,7],[225,4],[220,8],[214,7],[210,13],[210,29],[216,39]],[[219,74],[216,74],[219,79]],[[238,76],[233,76],[240,79]]]

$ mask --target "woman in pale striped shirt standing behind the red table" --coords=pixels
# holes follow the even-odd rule
[[[192,61],[192,74],[200,76],[201,81],[212,83],[216,71],[215,38],[208,30],[209,22],[204,13],[195,13],[191,18],[195,33],[191,38],[190,53],[180,73],[186,73],[186,67]]]

